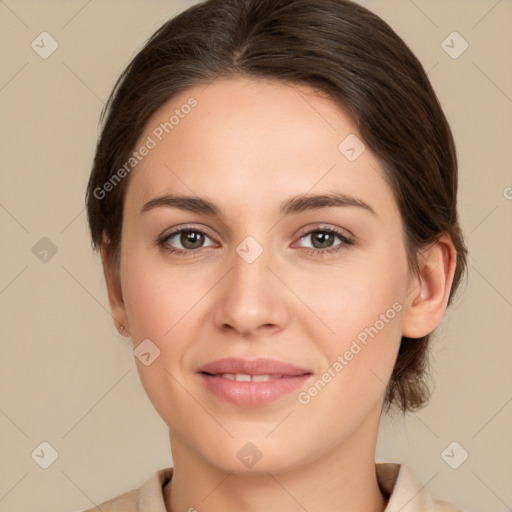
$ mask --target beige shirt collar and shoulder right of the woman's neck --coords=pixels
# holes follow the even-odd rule
[[[381,490],[389,497],[384,512],[466,512],[434,498],[404,464],[380,462],[375,464],[375,470]]]

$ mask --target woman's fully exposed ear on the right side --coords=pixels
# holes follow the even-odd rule
[[[457,251],[443,234],[418,254],[419,272],[410,281],[402,336],[421,338],[441,323],[455,273]]]

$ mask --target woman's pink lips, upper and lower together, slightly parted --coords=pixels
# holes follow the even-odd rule
[[[240,382],[222,377],[224,373],[270,375],[274,378],[267,381]],[[312,372],[276,359],[247,360],[229,357],[202,366],[198,375],[216,397],[241,407],[256,407],[278,400],[303,386],[311,378]]]

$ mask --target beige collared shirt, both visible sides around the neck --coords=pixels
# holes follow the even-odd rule
[[[404,464],[375,464],[377,482],[389,498],[384,512],[464,512],[446,501],[434,499]],[[163,488],[171,480],[173,468],[160,469],[138,489],[132,489],[98,506],[102,512],[167,512]],[[83,512],[97,512],[91,508]]]

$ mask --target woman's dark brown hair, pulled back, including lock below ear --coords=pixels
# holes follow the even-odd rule
[[[129,176],[108,194],[102,187],[128,161],[151,116],[194,85],[237,77],[309,86],[348,110],[393,189],[411,268],[418,270],[418,250],[442,233],[451,237],[457,251],[451,303],[467,250],[450,127],[419,60],[387,23],[349,0],[209,0],[158,29],[101,114],[86,197],[93,249],[105,232],[118,271]],[[386,411],[395,405],[405,413],[428,402],[429,341],[430,335],[402,338]]]

